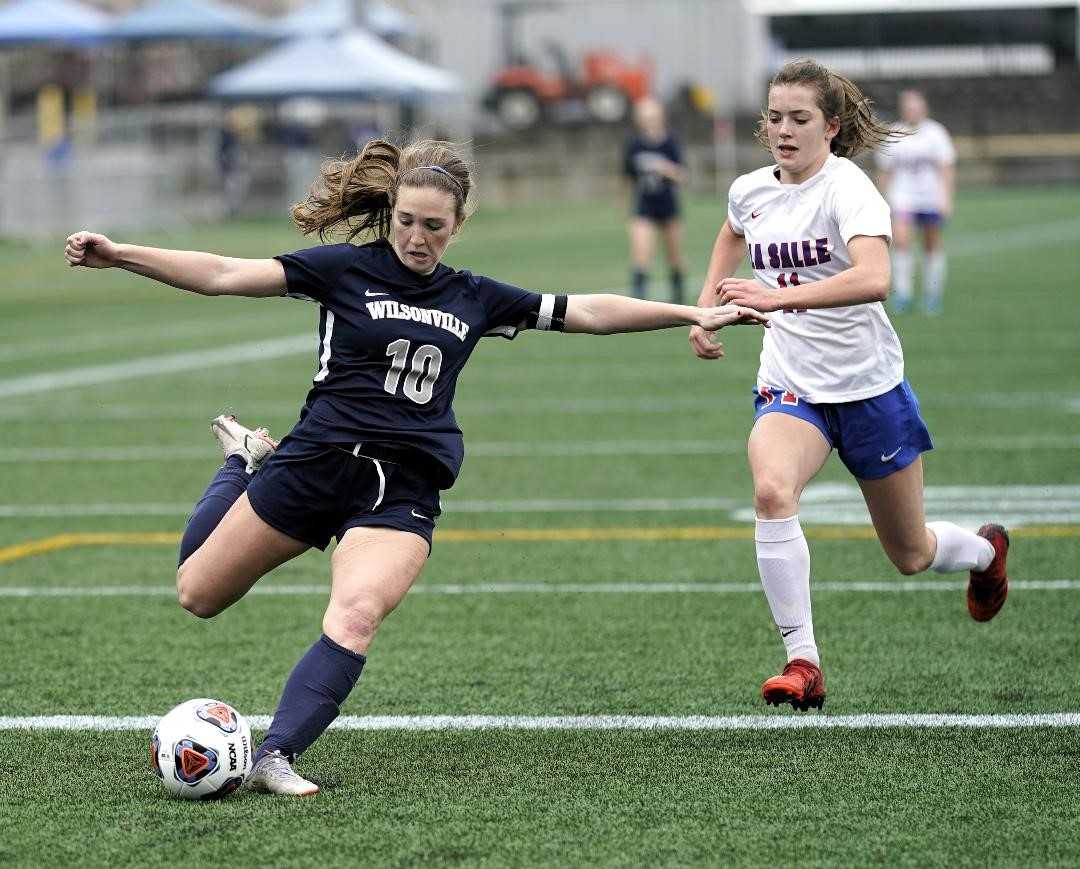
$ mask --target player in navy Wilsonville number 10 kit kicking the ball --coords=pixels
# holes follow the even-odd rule
[[[180,543],[180,605],[211,617],[311,546],[338,545],[323,634],[294,668],[249,784],[307,796],[292,763],[329,727],[372,638],[431,551],[438,493],[464,456],[451,403],[485,335],[524,328],[607,335],[766,323],[738,305],[693,308],[616,295],[537,294],[440,261],[465,219],[469,168],[446,142],[368,142],[330,161],[293,209],[305,233],[347,241],[273,259],[116,244],[77,232],[71,266],[118,267],[204,296],[289,296],[320,305],[318,371],[280,445],[218,417],[226,454]],[[351,244],[370,232],[376,241]],[[717,350],[719,352],[719,350]],[[257,472],[257,473],[256,473]]]

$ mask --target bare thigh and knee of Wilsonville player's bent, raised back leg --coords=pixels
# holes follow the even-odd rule
[[[260,519],[245,492],[176,571],[180,606],[201,619],[217,615],[275,567],[308,548]]]

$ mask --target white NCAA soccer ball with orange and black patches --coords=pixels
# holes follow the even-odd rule
[[[228,703],[202,697],[170,710],[150,739],[150,762],[170,797],[226,797],[252,771],[252,729]]]

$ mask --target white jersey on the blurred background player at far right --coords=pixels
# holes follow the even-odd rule
[[[942,168],[956,163],[948,131],[929,118],[918,126],[901,126],[901,136],[878,152],[877,163],[891,173],[889,204],[897,212],[941,212],[945,206]]]

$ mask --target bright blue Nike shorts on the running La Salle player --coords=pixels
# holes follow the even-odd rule
[[[772,386],[754,390],[754,421],[766,413],[788,413],[815,425],[840,461],[859,479],[881,479],[903,471],[934,448],[919,416],[919,399],[908,385],[873,398],[811,404]]]

